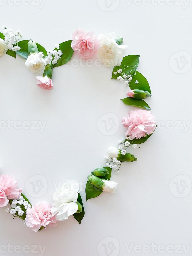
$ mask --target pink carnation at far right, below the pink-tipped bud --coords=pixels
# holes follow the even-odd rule
[[[153,133],[156,127],[154,115],[145,109],[135,109],[129,112],[129,117],[122,119],[123,126],[127,127],[125,135],[132,139],[140,139]]]

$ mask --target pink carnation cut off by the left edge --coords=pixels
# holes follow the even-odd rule
[[[18,199],[22,189],[16,189],[17,182],[10,175],[0,176],[0,207],[8,204],[8,199]],[[8,199],[7,199],[8,197]]]

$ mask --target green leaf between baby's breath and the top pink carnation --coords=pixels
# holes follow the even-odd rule
[[[72,40],[68,40],[66,42],[59,44],[59,46],[60,46],[59,50],[61,50],[63,54],[61,55],[61,59],[59,59],[57,61],[57,64],[53,65],[53,68],[62,66],[64,64],[66,64],[71,59],[71,57],[73,55],[73,50],[71,48],[71,42],[72,42]],[[55,50],[58,50],[58,49],[55,48]]]

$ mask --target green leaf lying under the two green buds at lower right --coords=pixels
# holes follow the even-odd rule
[[[107,169],[109,171],[109,173],[106,176],[100,177],[100,178],[110,180],[110,178],[111,178],[111,168],[110,167],[102,167],[102,168]],[[87,181],[85,192],[86,192],[86,201],[87,201],[91,198],[95,198],[95,197],[101,195],[101,193],[103,191],[101,189],[96,188],[94,185],[92,185],[91,183],[89,183]]]

